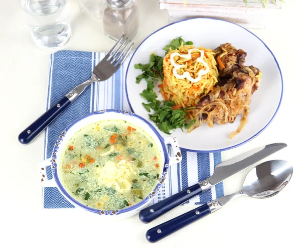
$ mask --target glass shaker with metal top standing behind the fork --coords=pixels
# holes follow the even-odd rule
[[[134,0],[106,0],[102,15],[104,34],[118,41],[122,35],[132,39],[139,28],[139,14]]]

